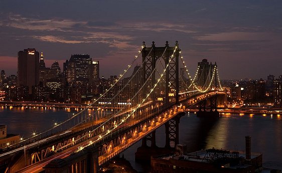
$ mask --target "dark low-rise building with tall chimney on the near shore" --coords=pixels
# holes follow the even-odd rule
[[[151,172],[255,172],[262,169],[262,154],[251,152],[250,136],[245,136],[246,150],[206,149],[186,152],[178,144],[174,154],[151,157]]]

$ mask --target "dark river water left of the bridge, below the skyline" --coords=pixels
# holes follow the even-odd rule
[[[49,129],[54,122],[60,122],[72,113],[74,109],[45,108],[45,107],[10,107],[0,106],[0,124],[7,125],[7,131],[13,134],[20,134],[28,138],[33,132],[40,132]]]

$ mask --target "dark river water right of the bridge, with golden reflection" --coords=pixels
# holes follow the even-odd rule
[[[263,167],[282,170],[282,119],[281,115],[228,114],[217,121],[200,119],[195,113],[187,113],[180,119],[181,144],[188,151],[205,148],[245,150],[245,136],[251,136],[251,151],[262,153]],[[157,146],[165,145],[165,127],[156,131]],[[138,171],[145,171],[148,165],[134,161],[134,153],[141,141],[124,151],[124,157]]]

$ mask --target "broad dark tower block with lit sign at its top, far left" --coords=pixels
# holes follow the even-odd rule
[[[27,48],[18,52],[18,86],[39,84],[39,52],[35,48]]]

